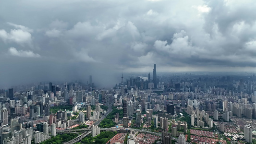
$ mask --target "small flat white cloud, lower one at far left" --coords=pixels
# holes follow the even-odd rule
[[[31,50],[17,50],[16,48],[9,48],[8,49],[9,54],[12,56],[17,56],[17,57],[28,57],[28,58],[39,58],[41,57],[39,54],[34,53]]]

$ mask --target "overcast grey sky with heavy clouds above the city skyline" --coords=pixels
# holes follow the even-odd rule
[[[0,86],[255,71],[255,0],[1,0]],[[104,85],[103,84],[103,85]]]

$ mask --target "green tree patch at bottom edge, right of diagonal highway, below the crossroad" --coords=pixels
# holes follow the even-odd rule
[[[96,137],[85,137],[80,143],[76,144],[106,144],[117,132],[100,132]]]

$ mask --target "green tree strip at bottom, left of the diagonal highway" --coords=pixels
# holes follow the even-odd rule
[[[75,137],[77,137],[77,134],[75,133],[58,134],[57,136],[52,137],[49,140],[43,141],[40,144],[63,144],[65,142],[72,140]]]

